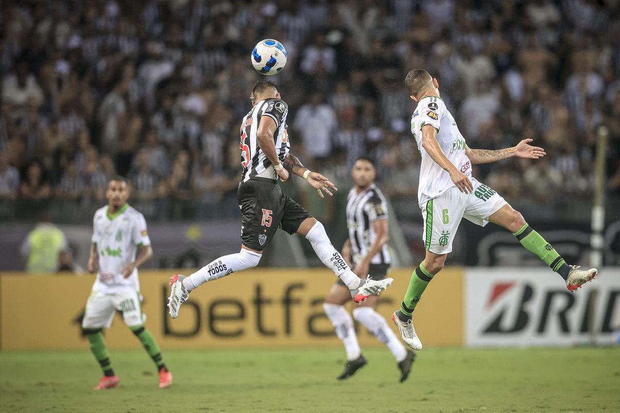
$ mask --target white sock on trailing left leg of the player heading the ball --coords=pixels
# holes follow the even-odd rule
[[[241,248],[238,253],[219,257],[191,276],[185,277],[183,285],[188,291],[192,291],[207,281],[213,281],[226,277],[233,272],[255,267],[259,264],[261,255]]]

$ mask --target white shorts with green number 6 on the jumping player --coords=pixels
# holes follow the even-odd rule
[[[452,241],[456,230],[465,218],[484,227],[489,217],[507,205],[505,199],[493,189],[471,178],[473,194],[466,194],[453,186],[437,198],[429,199],[422,209],[425,230],[422,235],[424,248],[435,254],[448,254],[452,251]]]

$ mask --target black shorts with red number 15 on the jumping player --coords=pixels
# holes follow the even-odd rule
[[[282,193],[275,180],[255,176],[237,189],[243,245],[262,251],[278,228],[293,234],[312,215]]]

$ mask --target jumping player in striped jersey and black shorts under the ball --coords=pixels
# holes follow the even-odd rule
[[[172,276],[168,299],[170,316],[177,317],[180,305],[201,284],[257,266],[263,248],[278,228],[306,237],[322,263],[347,285],[356,303],[384,291],[392,284],[391,278],[365,280],[356,276],[327,238],[321,222],[282,193],[277,178],[285,181],[289,173],[307,180],[321,198],[323,192],[332,195],[330,190],[337,188],[325,176],[304,168],[296,157],[288,153],[288,106],[280,99],[276,85],[268,79],[259,80],[252,89],[251,98],[252,110],[241,123],[239,144],[243,167],[237,189],[242,214],[241,251],[219,257],[188,277],[179,274]]]

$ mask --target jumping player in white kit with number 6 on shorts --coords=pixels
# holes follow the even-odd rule
[[[411,131],[422,155],[418,204],[426,222],[422,236],[426,256],[411,275],[401,309],[392,315],[405,344],[414,350],[422,349],[412,324],[412,313],[428,282],[443,268],[463,218],[480,226],[493,222],[512,232],[526,250],[562,276],[570,291],[593,280],[598,273],[596,268],[583,271],[578,266],[569,266],[551,244],[529,227],[518,211],[472,176],[472,163],[510,157],[539,159],[546,155],[544,150],[529,146],[532,139],[524,139],[507,149],[469,149],[439,97],[437,79],[427,71],[415,69],[407,74],[405,85],[410,97],[418,103],[411,119]]]

